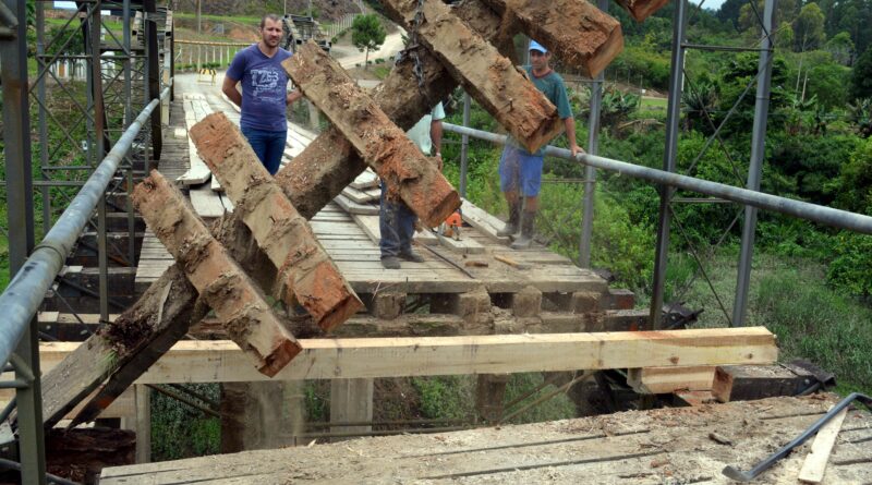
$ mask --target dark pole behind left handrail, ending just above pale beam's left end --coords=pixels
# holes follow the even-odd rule
[[[88,19],[90,40],[90,86],[94,97],[94,165],[106,155],[102,99],[102,62],[100,61],[100,0]],[[97,264],[99,266],[100,322],[109,322],[109,255],[106,243],[106,194],[97,202]]]

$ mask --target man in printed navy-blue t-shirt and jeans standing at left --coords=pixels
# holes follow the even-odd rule
[[[274,175],[288,138],[288,105],[303,97],[299,90],[288,93],[288,74],[281,62],[292,54],[279,47],[281,31],[278,15],[265,15],[261,41],[237,52],[221,86],[223,94],[242,108],[242,134]],[[237,84],[242,85],[241,94]]]

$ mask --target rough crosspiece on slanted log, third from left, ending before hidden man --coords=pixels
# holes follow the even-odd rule
[[[435,163],[317,44],[302,45],[282,66],[386,181],[388,198],[402,198],[428,227],[460,207],[460,196]]]

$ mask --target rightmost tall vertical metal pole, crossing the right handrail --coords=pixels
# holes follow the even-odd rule
[[[772,46],[774,39],[773,12],[776,0],[766,0],[763,8],[763,41],[760,46],[760,80],[756,84],[756,104],[754,106],[754,125],[751,135],[751,165],[748,168],[748,190],[760,191],[760,179],[763,172],[763,157],[766,148],[766,121],[770,114],[770,93],[772,86]],[[736,281],[736,301],[732,305],[734,327],[744,326],[748,307],[748,287],[751,280],[751,260],[754,254],[754,232],[756,229],[756,208],[744,207],[742,226],[742,246],[739,254],[739,274]]]

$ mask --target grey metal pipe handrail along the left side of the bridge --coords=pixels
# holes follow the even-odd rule
[[[169,87],[165,88],[160,94],[160,99],[164,99],[169,93]],[[63,267],[66,255],[72,251],[78,233],[82,232],[97,206],[97,201],[109,186],[118,166],[130,150],[143,123],[160,104],[160,99],[153,99],[143,108],[142,113],[136,117],[111,151],[97,166],[85,186],[78,191],[43,242],[34,248],[33,254],[9,283],[3,294],[0,294],[0,362],[9,361],[12,351],[17,347],[24,329],[39,310],[46,291]]]

